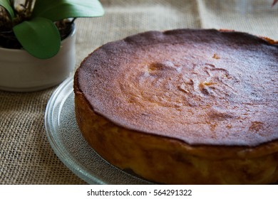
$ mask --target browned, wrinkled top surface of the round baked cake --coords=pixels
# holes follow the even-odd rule
[[[278,45],[214,29],[149,31],[107,43],[75,77],[94,112],[187,144],[278,139]]]

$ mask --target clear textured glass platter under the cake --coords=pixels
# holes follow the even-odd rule
[[[65,80],[48,101],[46,136],[58,158],[89,184],[148,184],[115,168],[87,144],[76,124],[73,77]]]

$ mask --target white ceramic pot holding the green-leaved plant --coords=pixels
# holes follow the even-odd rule
[[[25,50],[0,48],[0,90],[31,92],[43,90],[66,79],[76,64],[76,31],[61,42],[53,58],[41,60]]]

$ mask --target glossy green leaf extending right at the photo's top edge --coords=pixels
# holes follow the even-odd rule
[[[37,0],[34,16],[59,21],[64,18],[103,16],[103,6],[98,0]]]

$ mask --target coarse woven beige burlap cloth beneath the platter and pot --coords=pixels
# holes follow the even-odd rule
[[[105,16],[76,20],[76,67],[108,41],[149,30],[226,28],[278,40],[272,0],[102,0]],[[52,87],[0,91],[0,183],[84,184],[61,163],[46,138],[44,112]]]

